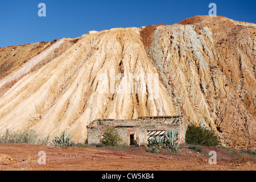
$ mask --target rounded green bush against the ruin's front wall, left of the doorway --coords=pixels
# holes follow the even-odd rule
[[[106,146],[117,146],[119,142],[122,142],[122,139],[115,127],[108,127],[103,134],[101,142]]]

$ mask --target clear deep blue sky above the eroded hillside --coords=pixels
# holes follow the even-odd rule
[[[38,16],[41,2],[46,4],[46,17]],[[217,15],[256,23],[255,0],[1,0],[0,47],[76,38],[90,30],[174,24],[208,15],[211,2],[217,5]]]

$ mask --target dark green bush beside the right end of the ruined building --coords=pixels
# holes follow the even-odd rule
[[[185,134],[185,142],[201,146],[218,146],[220,143],[214,131],[195,125],[188,126]]]

